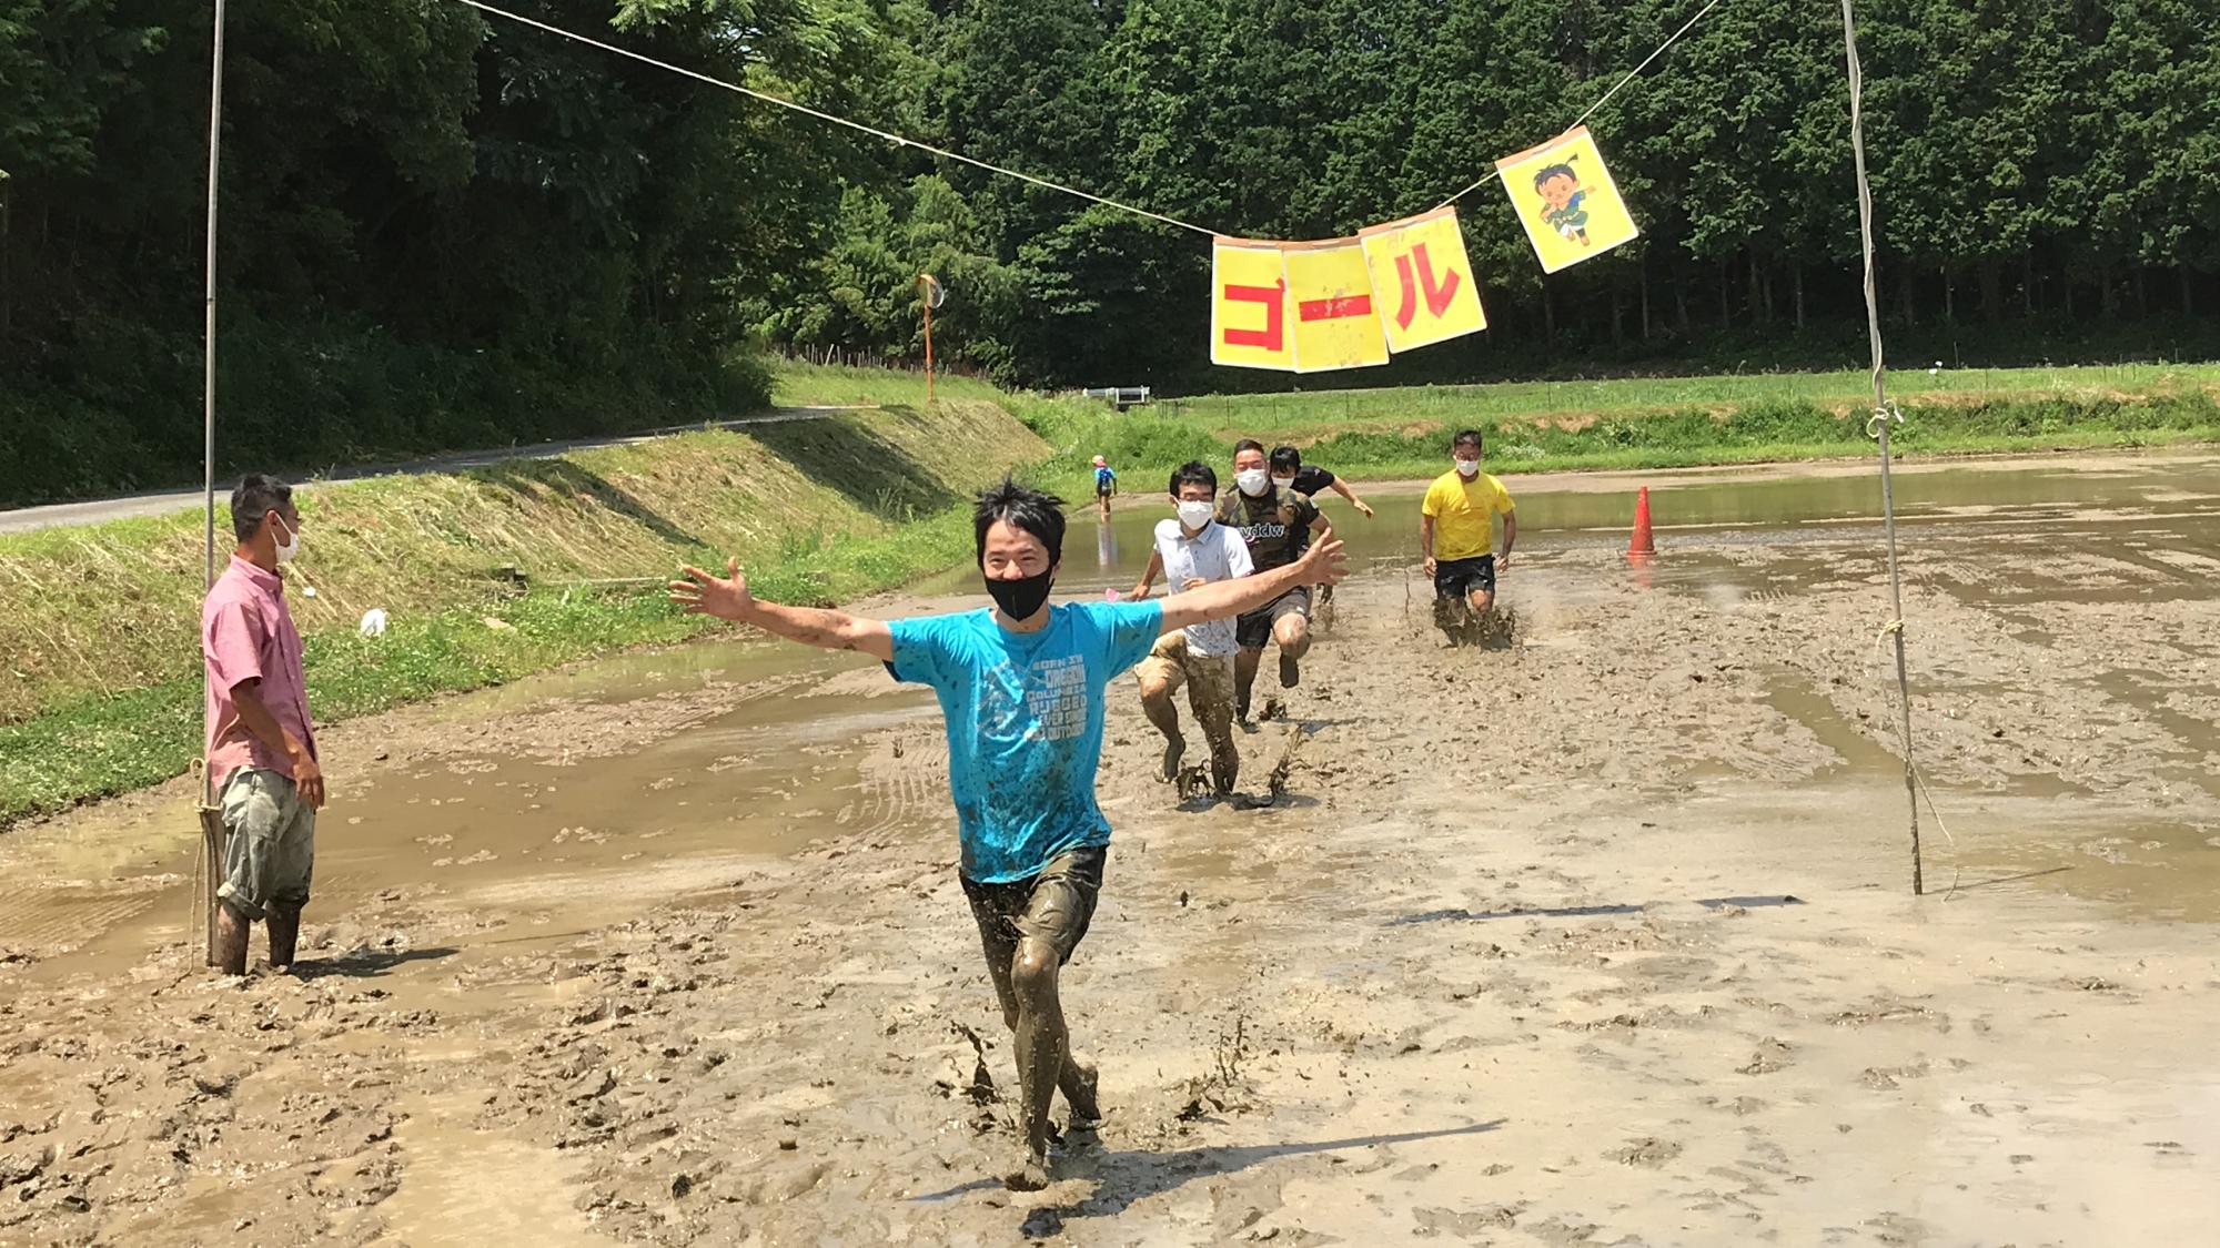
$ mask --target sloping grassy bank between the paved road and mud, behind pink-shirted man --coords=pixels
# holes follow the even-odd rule
[[[937,397],[926,411],[921,380],[786,369],[779,402],[886,406],[315,486],[295,584],[317,595],[291,597],[311,706],[333,722],[690,637],[708,624],[659,591],[682,562],[739,555],[784,602],[961,562],[966,495],[1048,446],[990,386]],[[191,766],[200,582],[198,511],[0,537],[0,828]],[[373,606],[393,622],[364,640]]]

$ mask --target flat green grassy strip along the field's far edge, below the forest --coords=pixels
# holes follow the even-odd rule
[[[1925,369],[1891,373],[1903,455],[2220,442],[2220,366]],[[1292,442],[1352,477],[1432,477],[1450,433],[1487,435],[1494,473],[1676,469],[1869,455],[1865,373],[1718,375],[1503,386],[1205,395],[1117,420],[1050,415],[1052,442],[1086,442],[1128,491],[1154,493],[1188,457],[1232,442]],[[1070,489],[1083,489],[1072,475]]]

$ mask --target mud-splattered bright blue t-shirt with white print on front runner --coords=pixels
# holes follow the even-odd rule
[[[1059,853],[1110,844],[1094,804],[1103,686],[1148,657],[1157,602],[1072,602],[1010,633],[995,611],[892,620],[895,680],[930,684],[948,719],[963,875],[1032,879]]]

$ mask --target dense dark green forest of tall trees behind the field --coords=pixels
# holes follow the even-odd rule
[[[1228,233],[1332,238],[1565,129],[1698,0],[513,0]],[[206,0],[0,0],[0,497],[200,455]],[[1865,0],[1883,295],[1980,362],[2220,340],[2202,0]],[[226,460],[761,402],[761,349],[1037,386],[1208,364],[1208,240],[455,0],[233,0]],[[1723,0],[1590,120],[1643,240],[1543,280],[1461,204],[1492,329],[1332,382],[1849,364],[1840,4]],[[1969,360],[1971,362],[1971,360]],[[1310,378],[1303,384],[1330,384]]]

